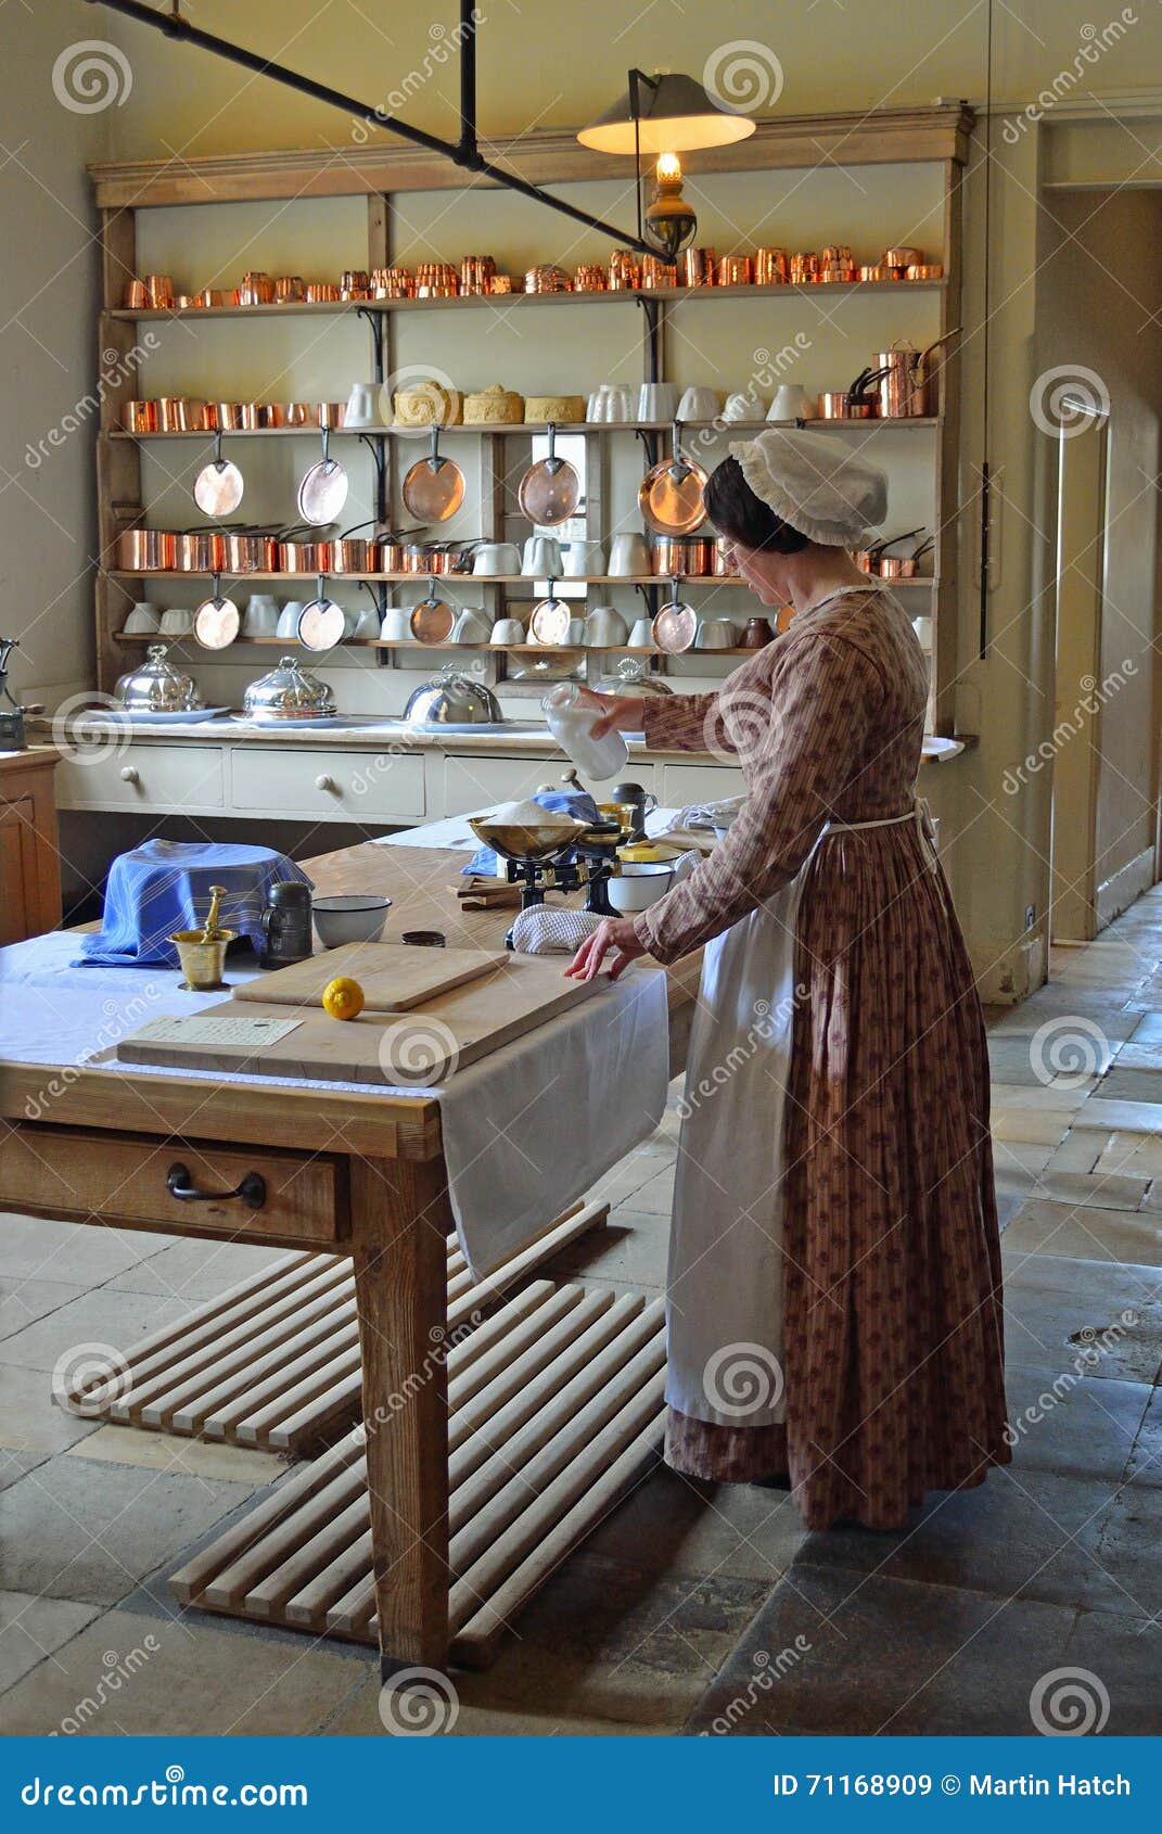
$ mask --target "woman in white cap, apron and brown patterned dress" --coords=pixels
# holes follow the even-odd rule
[[[713,695],[601,697],[654,750],[737,754],[696,871],[568,972],[706,946],[667,1276],[665,1458],[786,1478],[808,1528],[900,1526],[1008,1462],[981,1007],[915,781],[927,666],[850,548],[880,471],[819,433],[731,446],[707,514],[794,618]],[[594,697],[597,699],[597,697]]]

